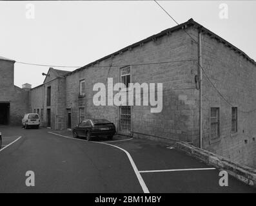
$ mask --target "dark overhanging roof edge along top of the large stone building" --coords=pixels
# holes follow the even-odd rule
[[[234,50],[235,52],[239,53],[239,55],[242,55],[244,58],[246,58],[248,61],[250,61],[252,64],[256,65],[256,62],[251,59],[248,55],[246,55],[246,53],[242,52],[241,50],[239,50],[239,48],[237,48],[236,46],[233,46],[233,44],[230,44],[230,42],[222,39],[221,37],[219,37],[219,35],[211,32],[210,30],[208,30],[207,28],[204,28],[204,26],[202,26],[201,24],[195,22],[192,18],[189,19],[188,21],[182,23],[182,24],[179,24],[177,26],[173,26],[172,28],[168,28],[166,30],[163,30],[162,32],[160,33],[157,33],[155,35],[152,35],[146,39],[143,39],[139,42],[135,42],[134,44],[130,44],[129,46],[126,46],[125,48],[121,49],[121,50],[118,50],[117,52],[114,52],[114,53],[111,53],[110,55],[107,55],[101,59],[98,59],[94,62],[91,62],[89,64],[86,64],[85,66],[82,66],[81,68],[78,68],[74,71],[70,71],[70,73],[68,73],[67,75],[65,76],[68,76],[68,75],[71,75],[72,73],[75,73],[77,71],[80,71],[80,70],[84,70],[85,68],[88,68],[90,66],[94,66],[95,64],[101,62],[101,61],[104,61],[110,57],[114,57],[115,55],[119,55],[120,53],[123,53],[123,52],[126,52],[128,50],[132,50],[133,48],[137,47],[137,46],[141,46],[147,42],[150,42],[150,41],[155,41],[155,39],[157,38],[161,38],[165,35],[170,35],[172,32],[175,32],[177,30],[181,30],[181,29],[185,29],[185,28],[188,28],[189,26],[194,26],[195,28],[200,28],[201,29],[201,32],[203,33],[206,33],[208,35],[210,35],[213,39],[217,39],[217,41],[219,42],[222,42],[223,44],[225,44],[226,46],[228,46],[229,48],[231,48],[232,50]]]

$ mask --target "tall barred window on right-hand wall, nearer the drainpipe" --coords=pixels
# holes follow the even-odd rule
[[[219,108],[211,108],[211,140],[219,138]]]

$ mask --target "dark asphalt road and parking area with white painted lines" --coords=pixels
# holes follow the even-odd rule
[[[217,169],[159,142],[119,136],[117,142],[87,142],[50,129],[0,131],[4,145],[16,140],[0,151],[0,192],[256,192],[231,176],[228,187],[219,186]],[[170,169],[178,171],[162,171]],[[34,187],[26,186],[26,171],[34,171]]]

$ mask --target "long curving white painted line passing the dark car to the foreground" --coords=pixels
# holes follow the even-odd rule
[[[81,140],[81,139],[77,139],[77,138],[71,138],[70,136],[64,136],[64,135],[59,135],[59,134],[56,134],[56,133],[52,133],[50,131],[48,131],[48,133],[51,133],[51,134],[57,135],[57,136],[63,136],[64,138],[70,138],[70,139],[73,139],[73,140]],[[81,140],[81,141],[92,142],[92,143],[97,143],[97,144],[105,144],[105,145],[110,145],[112,147],[116,147],[117,149],[121,149],[121,151],[123,151],[128,156],[128,159],[130,160],[130,164],[132,165],[133,171],[136,174],[137,179],[139,180],[139,183],[141,185],[141,188],[143,189],[143,192],[144,193],[150,193],[150,191],[148,191],[148,187],[146,187],[146,183],[144,182],[141,174],[139,173],[139,170],[137,169],[137,166],[135,165],[135,163],[132,159],[132,156],[130,155],[130,153],[128,153],[128,151],[126,151],[125,149],[123,149],[121,147],[117,147],[116,145],[108,144],[108,143],[105,143],[105,142],[94,142],[94,141],[87,141],[87,140]]]

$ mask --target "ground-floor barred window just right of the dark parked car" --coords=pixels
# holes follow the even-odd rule
[[[120,131],[124,133],[130,133],[131,131],[131,107],[121,106],[120,107]]]

